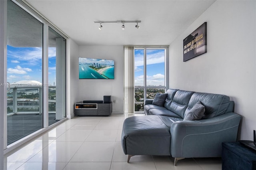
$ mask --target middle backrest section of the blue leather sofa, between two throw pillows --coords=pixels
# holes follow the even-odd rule
[[[193,93],[193,91],[177,90],[170,105],[164,105],[164,107],[183,118]]]

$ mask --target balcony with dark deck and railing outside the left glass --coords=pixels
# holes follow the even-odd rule
[[[48,125],[56,119],[56,86],[49,86]],[[7,91],[7,144],[12,144],[42,128],[42,84],[9,84]]]

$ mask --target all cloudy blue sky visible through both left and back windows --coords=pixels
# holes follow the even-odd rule
[[[147,84],[164,85],[164,49],[147,49]],[[56,48],[49,47],[49,83],[56,83]],[[135,85],[143,86],[144,50],[134,51]],[[42,83],[42,48],[12,47],[7,45],[7,81],[36,80]]]

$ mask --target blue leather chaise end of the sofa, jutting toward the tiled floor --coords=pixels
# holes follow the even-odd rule
[[[160,116],[133,116],[124,120],[121,143],[125,154],[170,155],[170,126]]]

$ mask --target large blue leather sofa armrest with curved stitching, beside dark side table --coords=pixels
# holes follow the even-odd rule
[[[230,112],[199,121],[176,121],[170,128],[174,158],[221,157],[222,142],[235,142],[240,115]]]

